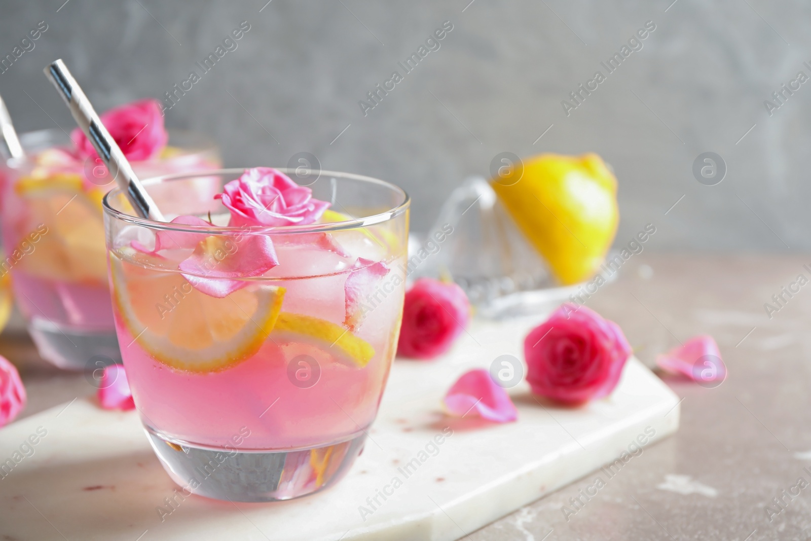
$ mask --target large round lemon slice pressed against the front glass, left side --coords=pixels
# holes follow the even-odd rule
[[[109,253],[114,300],[127,330],[152,357],[178,370],[220,371],[260,349],[277,323],[285,288],[259,286],[225,298],[200,293],[178,272]]]

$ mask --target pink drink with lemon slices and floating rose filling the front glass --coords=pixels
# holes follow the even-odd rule
[[[402,238],[388,247],[385,224],[280,232],[320,221],[328,202],[270,168],[225,181],[223,208],[209,199],[148,234],[117,225],[110,238],[122,359],[145,422],[208,448],[233,444],[249,418],[246,449],[311,449],[363,435],[397,347]],[[212,226],[208,210],[236,228]],[[329,477],[312,479],[320,486]]]

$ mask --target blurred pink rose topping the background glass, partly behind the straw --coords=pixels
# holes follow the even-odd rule
[[[157,157],[169,141],[169,134],[163,126],[161,105],[157,100],[133,101],[128,105],[109,109],[99,118],[129,161]],[[79,128],[71,131],[71,140],[79,158],[98,156],[96,149]]]

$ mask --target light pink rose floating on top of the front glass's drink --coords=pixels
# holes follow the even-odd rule
[[[329,207],[313,199],[312,190],[298,186],[271,167],[245,170],[214,196],[231,211],[229,225],[307,225],[317,221]]]

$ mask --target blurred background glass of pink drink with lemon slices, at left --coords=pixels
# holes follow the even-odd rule
[[[100,159],[72,157],[65,150],[71,141],[60,130],[33,131],[20,140],[26,157],[0,164],[6,252],[0,274],[11,272],[17,306],[43,358],[70,370],[120,362],[101,212],[114,178]],[[169,131],[159,157],[131,165],[142,178],[221,166],[214,144],[183,131]]]

